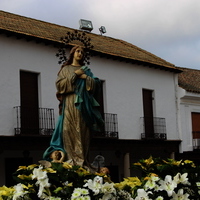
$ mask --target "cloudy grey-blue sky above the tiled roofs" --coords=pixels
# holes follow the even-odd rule
[[[0,0],[0,10],[79,29],[105,26],[122,39],[179,67],[200,70],[200,0]]]

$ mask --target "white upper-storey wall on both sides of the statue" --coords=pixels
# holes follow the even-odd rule
[[[0,134],[14,134],[13,107],[20,105],[19,70],[40,73],[40,107],[54,108],[55,80],[60,66],[57,49],[0,35]],[[92,57],[90,68],[105,80],[105,112],[118,115],[120,139],[140,139],[143,117],[142,89],[154,90],[154,116],[166,119],[167,138],[179,139],[175,88],[177,75],[164,70]],[[57,115],[56,115],[57,116]]]

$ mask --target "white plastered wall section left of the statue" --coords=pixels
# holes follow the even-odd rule
[[[60,69],[57,49],[0,35],[0,134],[14,134],[14,106],[20,105],[20,70],[39,73],[39,105],[57,113],[55,80]]]

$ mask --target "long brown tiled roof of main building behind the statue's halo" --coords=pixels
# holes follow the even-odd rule
[[[68,31],[73,30],[64,26],[0,11],[0,32],[6,31],[26,37],[60,43],[60,38],[65,36]],[[93,33],[87,33],[87,35],[92,39],[95,52],[179,72],[173,64],[128,42]]]

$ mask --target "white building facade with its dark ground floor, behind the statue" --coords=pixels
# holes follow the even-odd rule
[[[35,77],[38,108],[53,109],[55,121],[58,117],[55,88],[60,69],[55,56],[58,48],[38,42],[37,36],[34,38],[29,40],[23,36],[0,34],[0,141],[3,144],[0,185],[12,183],[7,177],[14,170],[10,168],[13,161],[16,166],[37,163],[49,144],[50,135],[24,135],[15,129],[20,128],[18,114],[21,111],[17,113],[14,107],[21,106],[22,99],[27,100],[29,106],[32,102],[33,88],[29,87],[29,75]],[[131,175],[130,165],[139,158],[150,155],[166,157],[178,152],[180,141],[186,135],[180,120],[180,114],[185,111],[181,109],[179,112],[179,108],[185,105],[179,105],[177,93],[180,70],[152,65],[151,61],[145,64],[135,60],[131,62],[130,59],[130,62],[120,61],[119,55],[114,59],[107,54],[92,57],[89,67],[103,82],[104,113],[117,115],[118,137],[92,141],[90,159],[92,161],[96,155],[103,155],[106,165],[116,172],[120,180]],[[23,76],[27,79],[22,80]],[[193,105],[191,109],[197,108]],[[32,116],[34,113],[30,106],[27,117]],[[147,120],[149,117],[150,120]],[[149,121],[150,124],[147,123]],[[189,149],[187,145],[190,142],[183,145],[182,150]]]

